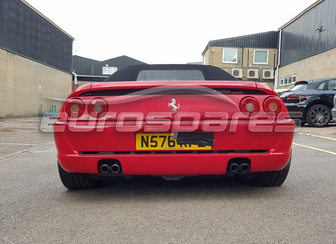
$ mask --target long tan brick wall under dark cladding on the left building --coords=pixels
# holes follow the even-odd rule
[[[0,57],[0,117],[36,116],[41,104],[58,112],[72,92],[71,74],[3,49]]]

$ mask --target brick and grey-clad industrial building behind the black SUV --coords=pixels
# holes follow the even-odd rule
[[[279,28],[277,88],[336,76],[336,0],[319,0]]]

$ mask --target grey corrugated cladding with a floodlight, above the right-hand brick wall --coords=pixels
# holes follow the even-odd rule
[[[336,47],[335,10],[336,0],[325,0],[282,30],[281,66]]]

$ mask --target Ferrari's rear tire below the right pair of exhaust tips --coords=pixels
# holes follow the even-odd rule
[[[280,186],[287,178],[289,167],[291,166],[291,159],[292,156],[287,165],[281,170],[259,172],[256,176],[250,179],[246,179],[244,174],[236,174],[234,176],[239,178],[240,181],[252,186]]]

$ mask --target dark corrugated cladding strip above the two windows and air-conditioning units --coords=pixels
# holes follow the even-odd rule
[[[210,46],[278,48],[279,32],[270,31],[253,35],[226,38],[209,42]]]

